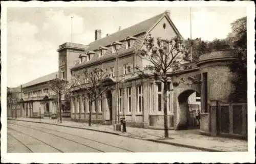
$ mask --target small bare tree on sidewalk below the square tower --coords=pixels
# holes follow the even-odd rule
[[[59,119],[60,123],[62,123],[62,117],[61,117],[61,97],[62,95],[66,95],[70,92],[70,84],[69,81],[55,78],[48,83],[49,88],[58,96],[58,108],[59,108]]]

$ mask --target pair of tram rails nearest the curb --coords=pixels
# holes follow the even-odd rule
[[[103,144],[103,145],[107,145],[107,146],[114,147],[114,148],[117,148],[117,149],[125,150],[125,151],[127,151],[127,152],[134,152],[134,151],[131,151],[131,150],[129,150],[129,149],[125,149],[125,148],[117,147],[117,146],[114,146],[114,145],[106,144],[106,143],[103,143],[103,142],[99,142],[99,141],[96,141],[96,140],[93,140],[93,139],[85,138],[85,137],[83,137],[83,136],[71,134],[71,133],[68,133],[68,132],[63,132],[63,131],[56,130],[56,129],[45,128],[45,127],[38,127],[38,126],[33,126],[33,125],[29,125],[29,126],[28,126],[28,125],[25,125],[25,124],[22,124],[22,125],[21,125],[21,124],[16,124],[16,123],[10,123],[10,124],[14,124],[14,125],[17,125],[17,126],[22,126],[22,127],[30,128],[30,129],[33,129],[33,130],[41,131],[41,132],[44,132],[44,133],[47,133],[47,134],[51,134],[51,135],[57,136],[57,137],[59,137],[59,138],[65,139],[65,140],[68,140],[68,141],[71,141],[71,142],[75,142],[75,143],[80,144],[80,145],[83,145],[83,146],[90,147],[90,148],[95,149],[95,150],[100,151],[100,152],[104,152],[104,151],[99,150],[99,149],[97,149],[97,148],[93,148],[93,147],[88,146],[88,145],[86,145],[86,144],[82,144],[82,143],[79,143],[79,142],[76,142],[76,141],[73,141],[73,140],[70,140],[70,139],[67,139],[67,138],[63,138],[63,136],[59,136],[59,135],[53,134],[53,133],[51,133],[51,132],[46,132],[46,131],[40,130],[40,129],[46,129],[46,130],[56,131],[56,132],[59,132],[59,133],[63,133],[63,134],[68,134],[68,135],[76,136],[77,138],[80,138],[80,139],[83,139],[83,140],[93,141],[93,142],[96,142],[96,143],[99,143],[99,144]],[[31,127],[31,126],[36,127],[36,128],[40,128],[40,129],[36,129],[36,128],[33,128],[33,127]]]

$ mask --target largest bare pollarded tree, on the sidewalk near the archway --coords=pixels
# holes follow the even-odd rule
[[[167,125],[167,90],[170,90],[168,82],[171,80],[168,74],[181,69],[182,64],[191,62],[189,46],[184,44],[184,40],[176,36],[172,39],[153,38],[151,34],[145,39],[141,49],[136,50],[136,54],[143,62],[148,64],[144,68],[137,67],[139,76],[142,78],[153,77],[164,84],[163,87],[163,111],[164,111],[164,136],[168,138]],[[191,67],[186,67],[189,69]],[[196,83],[195,77],[181,78],[180,81],[172,81],[174,86],[190,80]]]

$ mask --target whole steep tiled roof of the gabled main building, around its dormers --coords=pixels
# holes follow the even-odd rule
[[[130,26],[129,28],[123,29],[121,31],[118,31],[116,33],[113,33],[109,36],[106,36],[102,39],[96,40],[88,45],[88,48],[83,52],[87,53],[89,51],[96,51],[98,50],[101,46],[105,46],[108,49],[106,49],[106,52],[104,53],[104,56],[99,58],[99,54],[95,53],[93,57],[91,57],[90,61],[85,61],[80,64],[75,65],[74,67],[71,68],[71,70],[77,70],[83,67],[87,67],[89,65],[94,64],[95,62],[101,62],[110,58],[113,58],[116,56],[115,53],[112,53],[112,48],[111,45],[115,41],[123,41],[127,37],[134,37],[136,36],[136,40],[131,48],[126,49],[125,42],[122,42],[122,45],[120,46],[118,53],[123,54],[123,53],[132,53],[135,49],[140,48],[142,45],[144,38],[146,37],[146,32],[150,32],[152,28],[154,28],[154,25],[158,23],[158,21],[161,20],[162,17],[166,16],[166,18],[169,20],[170,24],[174,28],[174,31],[177,33],[177,35],[180,35],[179,31],[175,27],[174,23],[172,20],[170,20],[168,14],[165,12],[156,15],[150,19],[144,20],[138,24],[135,24],[133,26]],[[180,35],[181,36],[181,35]]]

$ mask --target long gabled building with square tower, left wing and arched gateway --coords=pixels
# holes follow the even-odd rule
[[[164,39],[182,37],[170,19],[170,12],[165,11],[105,37],[101,36],[101,30],[95,30],[95,41],[88,45],[70,42],[61,44],[57,49],[58,72],[23,85],[25,116],[38,115],[39,109],[44,109],[44,113],[56,113],[56,99],[49,94],[47,81],[56,76],[71,81],[75,74],[83,75],[85,70],[101,68],[108,72],[109,86],[112,89],[106,91],[102,98],[93,104],[92,122],[115,124],[118,118],[125,117],[128,126],[163,128],[163,84],[154,79],[140,78],[135,69],[144,68],[148,64],[135,53],[136,49],[142,48],[148,34]],[[228,102],[228,95],[233,87],[232,74],[227,64],[232,60],[236,60],[235,50],[211,52],[200,56],[198,61],[184,63],[180,70],[169,72],[169,129],[199,128],[196,120],[198,115],[201,116],[201,131],[212,133],[212,128],[219,126],[212,122],[216,117],[212,117],[210,113],[210,104],[212,100]],[[185,69],[187,66],[191,69]],[[196,76],[201,84],[176,86],[173,83],[188,76]],[[121,81],[118,91],[115,88],[116,77]],[[120,93],[119,108],[115,105],[116,92]],[[74,121],[89,120],[89,102],[83,90],[73,89],[70,112]]]

